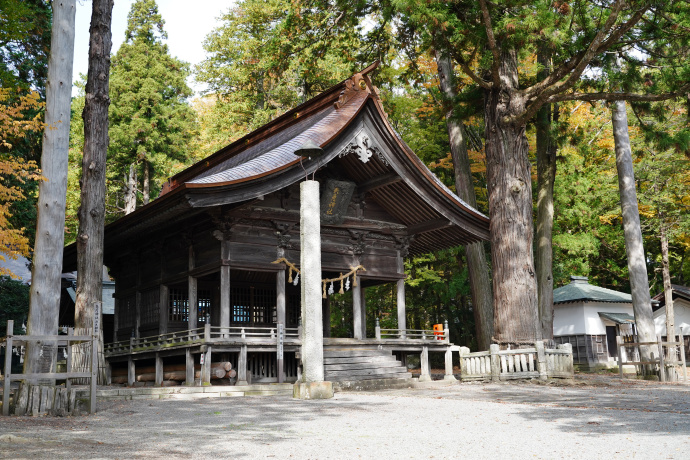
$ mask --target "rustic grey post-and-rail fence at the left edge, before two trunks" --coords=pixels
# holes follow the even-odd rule
[[[31,409],[32,406],[47,407],[50,405],[51,409],[56,406],[62,406],[65,411],[68,407],[74,407],[74,392],[71,388],[72,379],[89,379],[89,413],[96,412],[96,383],[98,375],[98,336],[97,335],[73,335],[73,330],[69,329],[67,335],[14,335],[14,321],[7,321],[7,336],[2,339],[5,346],[5,380],[3,383],[2,392],[2,415],[9,415],[10,413],[10,382],[12,380],[25,379],[47,379],[47,380],[65,380],[65,388],[58,392],[53,390],[52,397],[49,392],[34,386],[32,391],[26,392],[25,395],[20,395],[17,392],[15,395],[15,406],[22,405],[23,400],[26,399],[26,408]],[[34,344],[50,344],[50,346],[59,347],[65,346],[67,351],[67,372],[38,372],[30,374],[13,374],[12,373],[12,347]],[[72,344],[76,343],[90,343],[91,344],[91,363],[89,372],[71,372],[72,366]],[[38,398],[38,399],[37,399]],[[20,401],[21,400],[21,401]],[[26,410],[26,409],[25,409]]]

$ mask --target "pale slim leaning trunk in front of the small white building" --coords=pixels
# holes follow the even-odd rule
[[[618,169],[618,188],[620,190],[621,211],[623,213],[623,232],[625,252],[628,257],[628,271],[633,299],[635,324],[640,342],[654,342],[654,322],[652,321],[652,299],[649,296],[647,264],[642,245],[640,214],[637,207],[635,175],[633,173],[630,138],[628,137],[628,115],[625,102],[613,103],[611,121],[613,141],[616,146],[616,167]],[[642,361],[650,361],[650,347],[640,347]]]

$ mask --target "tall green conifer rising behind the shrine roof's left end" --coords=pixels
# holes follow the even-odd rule
[[[164,24],[154,0],[136,1],[125,42],[112,59],[109,214],[122,209],[123,178],[130,165],[139,169],[140,182],[143,169],[150,168],[155,197],[162,182],[189,163],[187,152],[196,131],[194,112],[186,102],[192,94],[186,83],[189,66],[170,55],[163,42]]]

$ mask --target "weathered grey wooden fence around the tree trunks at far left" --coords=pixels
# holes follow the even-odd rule
[[[3,346],[5,347],[5,380],[3,382],[3,392],[2,392],[2,415],[9,415],[10,413],[10,382],[12,380],[65,380],[65,388],[61,390],[57,396],[54,393],[52,400],[55,401],[56,398],[59,400],[64,398],[74,399],[73,391],[71,391],[71,380],[72,379],[89,379],[89,413],[93,414],[96,412],[96,383],[98,375],[98,336],[97,335],[73,335],[73,330],[69,329],[67,335],[14,335],[14,321],[7,321],[7,336],[0,339]],[[65,346],[67,351],[67,372],[38,372],[38,373],[28,373],[28,374],[13,374],[12,373],[12,347],[27,345],[29,343],[39,344],[43,343],[46,345],[59,347]],[[91,344],[91,362],[89,372],[71,372],[72,365],[72,344],[75,343],[90,343]],[[39,390],[35,387],[33,391]],[[39,390],[40,391],[40,390]],[[51,389],[51,391],[54,391]],[[27,395],[29,397],[29,395]],[[31,396],[35,399],[35,396]],[[18,396],[15,396],[15,405],[19,404],[17,401]],[[48,398],[51,399],[51,398]],[[62,401],[58,401],[62,402]],[[36,401],[34,401],[36,403]],[[28,404],[28,401],[27,401]],[[42,404],[42,403],[41,403]],[[72,403],[71,405],[73,405]],[[65,408],[68,405],[65,404]]]

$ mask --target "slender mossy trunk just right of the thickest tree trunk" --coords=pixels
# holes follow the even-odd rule
[[[537,56],[545,69],[550,60]],[[544,105],[537,113],[537,241],[535,268],[539,296],[539,327],[542,338],[553,339],[553,189],[556,181],[558,146],[551,134],[551,121],[558,119],[558,107]]]

